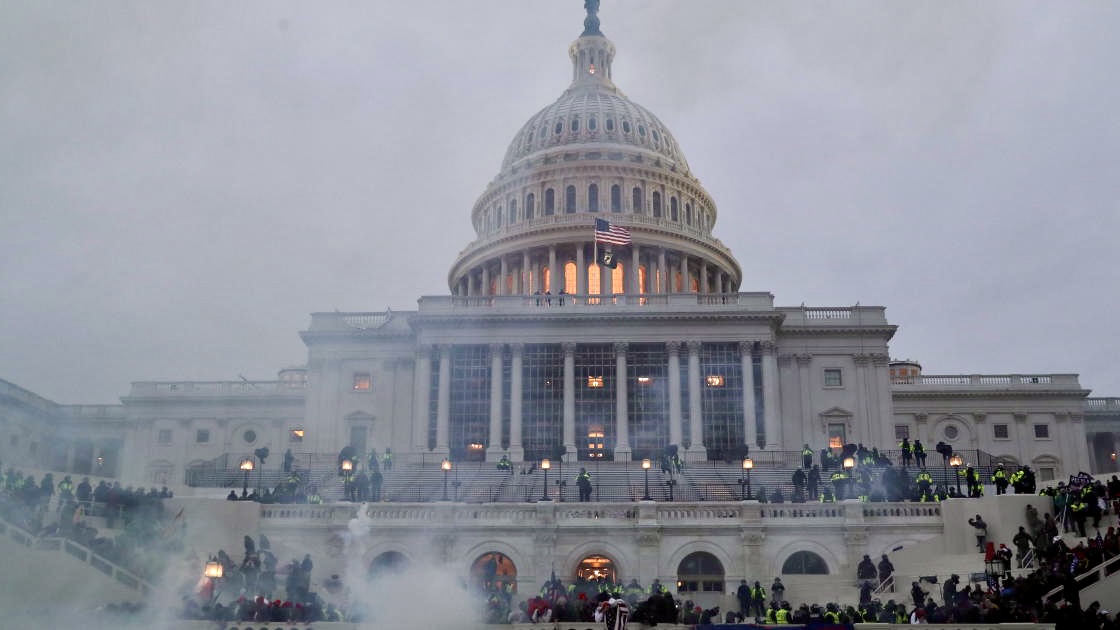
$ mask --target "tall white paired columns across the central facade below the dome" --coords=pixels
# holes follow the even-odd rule
[[[758,348],[762,355],[762,390],[763,390],[763,435],[758,435],[758,420],[755,413],[755,380],[753,354]],[[680,361],[681,342],[665,342],[669,354],[669,442],[682,444],[683,421],[681,407]],[[689,453],[704,454],[703,419],[701,407],[700,342],[690,341],[684,344],[688,361],[689,388]],[[629,410],[627,402],[627,343],[615,344],[615,457],[626,460],[632,453],[629,444]],[[502,444],[502,354],[503,344],[491,345],[491,390],[489,390],[489,445],[487,456],[498,457],[498,446]],[[510,344],[511,380],[510,380],[510,456],[515,461],[524,458],[522,445],[522,353],[524,344]],[[435,349],[439,353],[439,381],[436,398],[436,452],[450,452],[450,411],[451,411],[451,346],[441,345]],[[563,350],[563,444],[568,452],[577,452],[576,444],[576,344],[564,343]],[[417,427],[414,446],[417,452],[428,448],[428,427],[430,418],[431,392],[431,349],[421,349],[416,362],[416,400],[414,423]],[[782,409],[777,386],[777,352],[773,342],[744,341],[739,343],[740,370],[743,383],[743,421],[744,438],[747,444],[760,445],[767,450],[776,450],[782,445],[781,418]],[[762,439],[759,439],[762,437]]]

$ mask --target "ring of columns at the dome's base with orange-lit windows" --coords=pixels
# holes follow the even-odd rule
[[[588,256],[587,249],[594,245],[589,243],[577,243],[575,251],[566,251],[562,263],[557,266],[557,245],[549,245],[547,256],[524,250],[520,254],[508,254],[498,257],[497,261],[488,261],[473,269],[467,276],[461,278],[456,287],[456,294],[460,296],[485,296],[485,295],[530,295],[536,291],[560,293],[559,289],[567,286],[567,266],[573,262],[576,266],[576,294],[587,295],[588,291],[588,268],[596,261],[592,256]],[[601,245],[600,245],[601,247]],[[682,293],[692,293],[690,271],[696,272],[697,291],[701,294],[732,293],[730,276],[716,267],[709,268],[706,259],[691,259],[684,253],[673,253],[665,248],[643,247],[631,244],[627,259],[622,260],[625,270],[622,293],[672,293],[675,287],[670,282],[673,272],[679,272],[683,279],[684,289]],[[647,270],[645,285],[642,286],[638,277],[638,268],[645,267]],[[544,270],[549,269],[553,278],[551,286],[544,284]],[[491,291],[492,275],[496,274],[497,282],[495,290]],[[512,282],[507,282],[512,278]],[[616,291],[612,287],[612,275],[599,275],[599,295],[610,295]],[[512,286],[511,286],[512,285]],[[594,291],[591,291],[594,293]]]

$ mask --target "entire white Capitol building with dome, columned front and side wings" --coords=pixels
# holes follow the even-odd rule
[[[1043,482],[1116,470],[1120,401],[1088,398],[1076,374],[924,374],[892,361],[897,326],[884,307],[781,306],[745,290],[757,287],[744,287],[716,237],[715,200],[673,133],[616,85],[615,46],[594,10],[584,26],[567,89],[513,135],[470,209],[476,238],[448,272],[448,295],[422,296],[416,311],[315,313],[299,333],[306,364],[274,381],[137,381],[114,406],[58,405],[0,382],[0,461],[224,497],[231,479],[240,489],[239,462],[268,448],[254,485],[282,479],[290,452],[329,503],[342,499],[344,447],[360,467],[371,450],[391,451],[384,499],[435,503],[413,516],[441,499],[522,503],[474,529],[446,518],[436,547],[464,573],[500,553],[538,582],[550,566],[573,575],[598,558],[644,583],[676,580],[698,550],[737,582],[778,574],[800,550],[836,572],[941,531],[935,508],[912,515],[918,530],[881,536],[864,512],[833,510],[820,516],[836,527],[799,546],[803,534],[768,529],[765,511],[738,501],[747,456],[767,485],[788,480],[803,445],[893,450],[904,437],[925,445],[931,467],[944,465],[940,442],[967,463],[1029,465]],[[674,452],[685,467],[666,483],[659,462]],[[503,457],[507,476],[494,465]],[[643,460],[654,462],[652,497]],[[582,521],[589,512],[549,511],[577,500],[579,467],[600,484],[592,501],[615,506],[595,516],[609,531]],[[734,513],[704,508],[720,500]],[[631,501],[641,511],[617,507]],[[262,510],[264,526],[279,518]],[[698,546],[703,522],[727,540]],[[326,540],[343,525],[314,527]],[[408,529],[395,522],[366,559],[422,555],[429,544]]]

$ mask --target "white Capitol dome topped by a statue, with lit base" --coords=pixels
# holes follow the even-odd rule
[[[598,2],[587,10],[571,84],[522,126],[475,203],[477,238],[451,266],[451,294],[737,291],[739,263],[712,237],[715,202],[672,132],[615,85],[615,46]],[[624,235],[597,242],[597,220]]]

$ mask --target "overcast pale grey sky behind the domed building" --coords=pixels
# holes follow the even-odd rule
[[[446,295],[579,0],[0,3],[0,378],[274,378]],[[884,305],[926,373],[1120,396],[1118,2],[604,0],[744,290]]]

